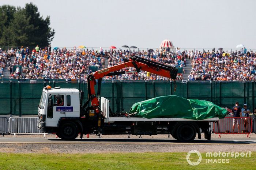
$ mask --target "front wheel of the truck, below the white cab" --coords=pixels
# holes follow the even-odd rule
[[[78,128],[73,122],[63,123],[60,127],[60,138],[64,140],[74,140],[78,136]]]

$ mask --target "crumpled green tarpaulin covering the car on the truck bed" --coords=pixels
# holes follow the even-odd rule
[[[224,118],[227,110],[212,102],[198,99],[185,99],[176,95],[161,96],[132,105],[129,113],[142,118],[186,118],[203,120]]]

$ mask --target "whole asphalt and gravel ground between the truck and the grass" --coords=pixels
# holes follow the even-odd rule
[[[222,152],[245,152],[256,151],[256,135],[251,138],[243,135],[213,135],[211,141],[205,139],[195,140],[192,143],[178,142],[167,136],[154,138],[113,138],[103,136],[97,138],[77,138],[75,141],[62,141],[55,135],[43,135],[28,137],[29,135],[12,135],[0,138],[0,152],[4,153],[109,153],[109,152],[188,152],[198,150],[200,152],[222,151]],[[109,138],[112,137],[112,138]],[[162,137],[162,138],[161,138]],[[165,137],[165,138],[163,138]]]

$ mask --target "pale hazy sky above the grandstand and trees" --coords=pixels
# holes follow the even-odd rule
[[[24,7],[31,0],[0,0]],[[55,30],[52,47],[256,49],[255,0],[33,0]]]

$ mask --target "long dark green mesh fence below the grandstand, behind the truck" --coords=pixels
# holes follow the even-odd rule
[[[77,88],[84,91],[87,100],[87,83],[79,81],[4,81],[0,83],[0,115],[37,115],[42,88],[46,85]],[[247,103],[252,111],[255,104],[255,82],[213,81],[116,81],[103,80],[101,96],[110,100],[113,112],[129,111],[132,104],[158,96],[177,95],[187,99],[211,101],[218,106],[232,108],[236,101]],[[97,92],[97,85],[95,86]]]

